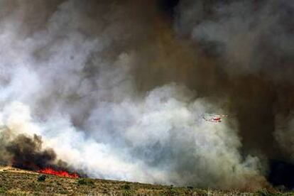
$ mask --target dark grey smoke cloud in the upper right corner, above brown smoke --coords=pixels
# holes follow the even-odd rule
[[[184,12],[186,4],[192,16]],[[190,27],[181,33],[190,32],[193,40],[210,45],[229,75],[264,74],[293,82],[292,1],[216,1],[209,16],[202,13],[202,1],[183,1],[182,7],[179,31]]]

